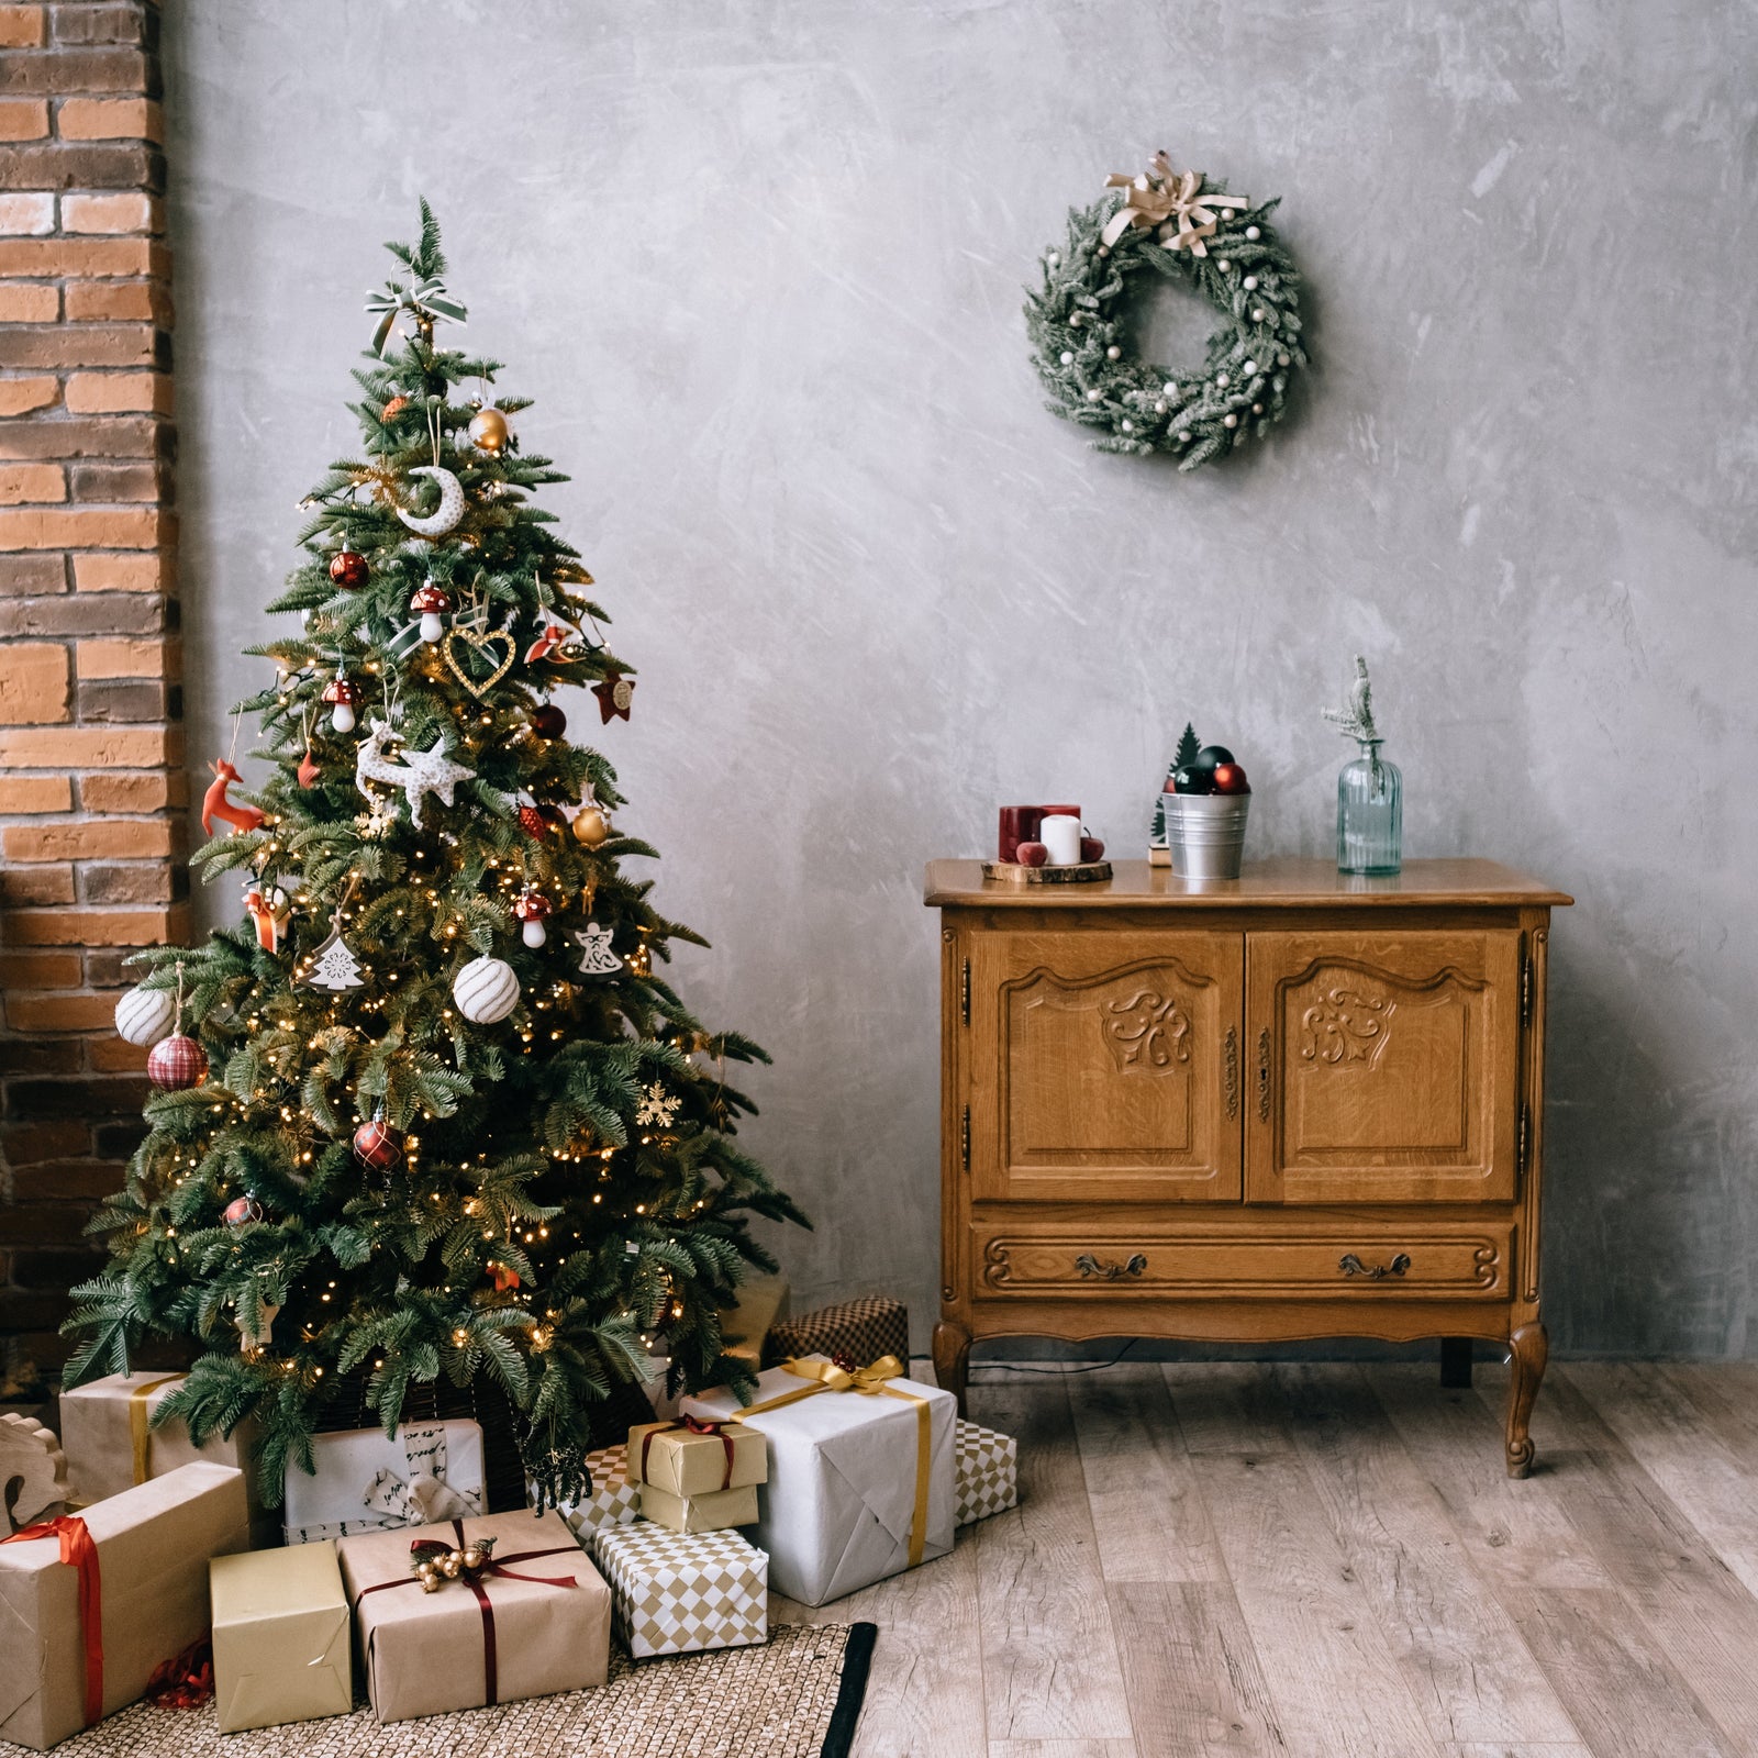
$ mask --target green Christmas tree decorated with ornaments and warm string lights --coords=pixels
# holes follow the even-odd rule
[[[740,1378],[717,1310],[775,1268],[751,1220],[803,1217],[735,1141],[728,1065],[766,1057],[657,974],[705,942],[624,872],[656,851],[545,700],[592,682],[608,726],[633,693],[529,499],[566,478],[520,450],[499,364],[438,346],[466,313],[425,202],[389,248],[362,454],[304,501],[308,559],[269,607],[301,629],[250,649],[276,682],[239,712],[274,774],[241,805],[216,765],[204,807],[232,828],[195,860],[246,875],[251,919],[141,955],[118,1009],[163,1090],[93,1222],[114,1260],[74,1290],[67,1377],[190,1340],[167,1412],[197,1440],[253,1415],[278,1484],[357,1377],[390,1429],[411,1384],[487,1375],[564,1494],[645,1336],[673,1385]]]

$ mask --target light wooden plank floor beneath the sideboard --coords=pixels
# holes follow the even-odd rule
[[[923,1378],[930,1369],[918,1364]],[[1021,1507],[872,1619],[856,1758],[1758,1758],[1758,1368],[972,1373]]]

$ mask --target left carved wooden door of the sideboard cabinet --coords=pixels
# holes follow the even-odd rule
[[[981,933],[970,1183],[1014,1201],[1239,1201],[1239,933]]]

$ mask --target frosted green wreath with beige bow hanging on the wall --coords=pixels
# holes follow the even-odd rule
[[[1180,469],[1280,422],[1306,352],[1301,276],[1269,225],[1276,200],[1253,206],[1155,153],[1141,176],[1113,172],[1097,202],[1071,209],[1067,248],[1044,253],[1044,285],[1025,304],[1046,408],[1099,429],[1101,452],[1171,452]],[[1141,269],[1185,281],[1222,313],[1201,371],[1132,353],[1123,294]]]

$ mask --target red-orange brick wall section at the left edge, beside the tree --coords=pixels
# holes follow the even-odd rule
[[[156,0],[0,5],[0,1343],[53,1368],[186,933]],[[5,1375],[0,1375],[4,1378]]]

